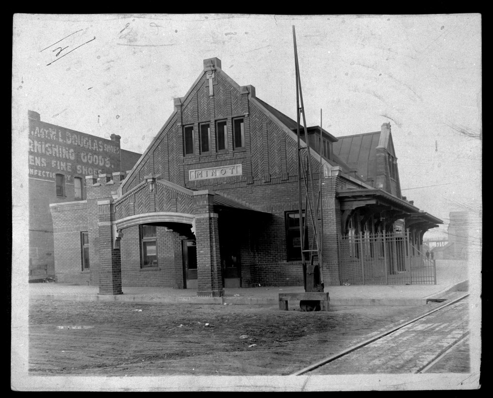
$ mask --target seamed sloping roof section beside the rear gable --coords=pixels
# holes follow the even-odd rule
[[[350,168],[356,169],[358,176],[367,181],[375,181],[377,174],[376,154],[380,141],[380,131],[338,137],[332,144],[334,157],[338,157]]]

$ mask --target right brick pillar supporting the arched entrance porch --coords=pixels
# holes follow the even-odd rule
[[[221,297],[221,258],[217,214],[213,212],[214,195],[209,191],[194,192],[195,237],[197,242],[197,295]]]

